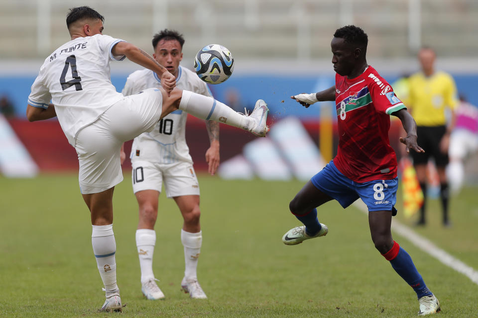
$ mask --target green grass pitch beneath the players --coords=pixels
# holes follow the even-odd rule
[[[140,290],[130,177],[115,189],[114,231],[122,314],[98,313],[101,278],[91,247],[90,215],[77,175],[0,177],[0,317],[416,317],[415,293],[375,250],[365,214],[330,202],[319,208],[325,238],[296,246],[282,235],[299,222],[288,202],[303,182],[225,181],[200,176],[203,247],[199,281],[208,300],[180,291],[182,219],[160,198],[154,272],[166,295]],[[416,231],[478,268],[478,187],[451,202],[453,227],[440,225],[431,200],[428,227]],[[400,213],[400,200],[397,204]],[[413,220],[396,217],[404,224]],[[394,235],[442,305],[438,317],[477,317],[478,285]]]

